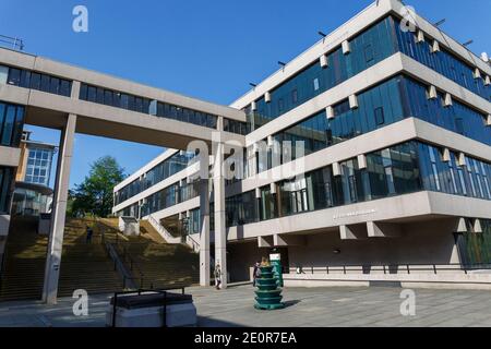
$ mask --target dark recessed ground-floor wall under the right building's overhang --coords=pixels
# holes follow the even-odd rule
[[[454,228],[455,219],[436,219],[404,225],[400,238],[340,240],[337,231],[307,236],[304,246],[288,249],[290,266],[458,263]]]

